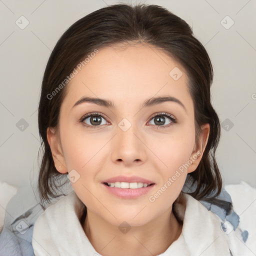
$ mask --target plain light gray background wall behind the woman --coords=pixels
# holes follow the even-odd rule
[[[17,187],[36,185],[40,146],[37,106],[50,52],[73,22],[98,8],[118,2],[0,1],[1,181]],[[186,20],[205,46],[214,68],[212,104],[221,123],[224,121],[216,151],[224,184],[244,180],[256,187],[256,1],[140,2],[162,5]],[[24,18],[20,21],[20,16],[29,21],[24,29],[15,23],[24,24]],[[234,24],[229,27],[232,22]],[[28,123],[23,131],[16,125],[21,118]]]

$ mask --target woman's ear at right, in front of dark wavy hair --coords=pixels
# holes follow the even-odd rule
[[[197,143],[197,145],[196,144],[194,145],[193,152],[191,153],[191,155],[189,157],[189,160],[190,160],[189,163],[191,163],[191,164],[189,164],[189,166],[187,168],[187,173],[192,172],[197,168],[197,166],[202,158],[204,149],[207,145],[209,131],[210,131],[209,123],[205,123],[201,126],[201,133],[198,138],[198,143]]]

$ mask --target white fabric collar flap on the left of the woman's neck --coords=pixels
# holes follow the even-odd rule
[[[45,255],[45,250],[50,255],[60,255],[66,234],[80,227],[82,209],[82,203],[74,191],[48,206],[34,223],[32,246],[35,256]]]

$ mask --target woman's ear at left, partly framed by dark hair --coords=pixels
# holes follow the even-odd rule
[[[60,173],[66,173],[67,168],[65,164],[65,158],[62,153],[60,139],[55,128],[47,128],[47,140],[50,146],[52,158],[54,160],[55,168]]]

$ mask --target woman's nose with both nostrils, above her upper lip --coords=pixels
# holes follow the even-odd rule
[[[131,125],[127,130],[122,127],[117,127],[112,140],[112,161],[125,166],[142,164],[146,160],[146,146],[141,132],[135,125]]]

